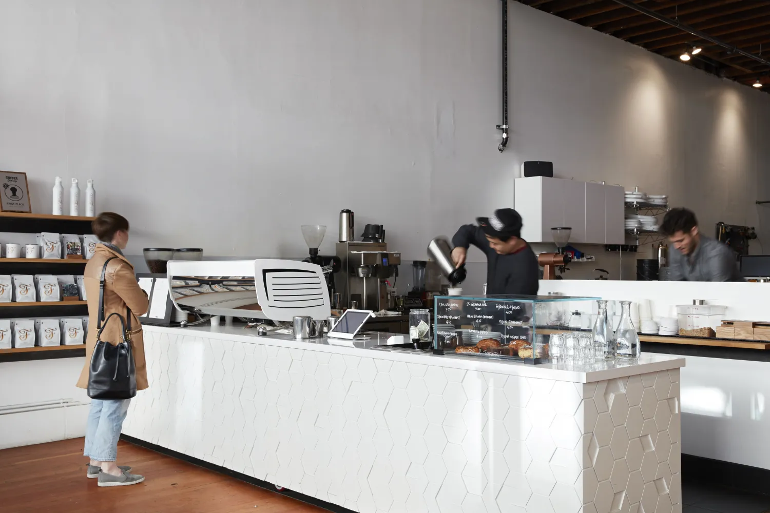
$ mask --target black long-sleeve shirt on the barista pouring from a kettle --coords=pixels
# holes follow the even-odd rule
[[[487,294],[537,295],[540,267],[532,248],[527,244],[511,255],[497,255],[490,248],[484,230],[474,225],[463,225],[452,238],[460,248],[474,245],[487,255]]]

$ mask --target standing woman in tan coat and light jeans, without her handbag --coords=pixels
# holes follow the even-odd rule
[[[142,325],[137,315],[147,311],[147,295],[136,282],[134,268],[123,256],[129,242],[129,222],[114,212],[102,212],[91,223],[94,234],[101,241],[83,272],[85,294],[89,303],[89,333],[85,341],[85,365],[80,373],[78,385],[89,388],[89,366],[96,345],[96,325],[99,314],[99,281],[102,268],[107,263],[104,287],[104,316],[117,312],[126,321],[126,307],[131,310],[131,348],[136,365],[136,389],[147,388],[147,370],[142,344]],[[120,321],[112,318],[104,325],[102,341],[116,345],[122,340]],[[91,458],[86,472],[89,478],[98,478],[99,486],[136,485],[144,481],[141,475],[131,474],[131,467],[115,463],[118,455],[118,438],[131,399],[92,399],[88,424],[85,428],[85,449],[83,455]]]

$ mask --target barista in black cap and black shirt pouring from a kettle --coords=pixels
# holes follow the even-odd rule
[[[469,245],[487,255],[487,294],[537,295],[537,257],[521,238],[521,215],[513,208],[500,208],[489,218],[477,218],[478,226],[460,226],[452,238],[452,259],[465,263]]]

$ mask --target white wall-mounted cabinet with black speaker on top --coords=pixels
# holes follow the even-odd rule
[[[624,244],[624,190],[618,185],[535,176],[517,178],[514,208],[521,214],[521,237],[553,242],[551,228],[572,228],[570,242]]]

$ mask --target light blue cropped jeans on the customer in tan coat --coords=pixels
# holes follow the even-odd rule
[[[96,461],[115,461],[129,402],[131,399],[91,399],[89,421],[85,425],[84,456]]]

